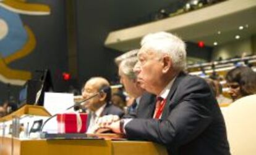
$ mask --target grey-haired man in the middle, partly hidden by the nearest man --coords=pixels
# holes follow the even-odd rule
[[[129,54],[137,54],[139,50],[131,50],[127,52],[124,55],[129,55]],[[116,60],[119,60],[119,77],[120,77],[120,82],[121,84],[124,85],[124,89],[126,92],[129,94],[130,97],[134,98],[134,101],[132,104],[127,105],[127,113],[124,115],[122,118],[130,118],[130,117],[139,117],[139,118],[145,118],[148,117],[147,111],[144,109],[147,108],[147,104],[150,103],[151,100],[155,101],[154,97],[148,97],[148,95],[143,95],[146,94],[144,89],[140,87],[139,82],[137,81],[137,75],[134,72],[134,66],[138,62],[137,57],[125,57],[122,60],[120,60],[120,57],[124,57],[123,55],[119,56],[116,58]],[[117,62],[117,61],[115,61]],[[143,95],[143,98],[142,98]],[[142,102],[142,104],[140,104]],[[105,116],[103,118],[104,120],[109,120],[111,121],[117,121],[120,119],[120,117],[117,116]]]

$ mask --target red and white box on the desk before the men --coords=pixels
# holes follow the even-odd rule
[[[87,117],[86,113],[57,114],[58,133],[85,133]]]

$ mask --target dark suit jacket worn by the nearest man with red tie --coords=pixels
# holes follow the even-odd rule
[[[161,119],[152,119],[155,103],[145,104],[147,119],[128,122],[127,138],[160,143],[171,155],[230,154],[220,107],[205,80],[181,73],[166,99]]]

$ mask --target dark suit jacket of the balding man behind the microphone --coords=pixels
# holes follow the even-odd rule
[[[117,106],[113,105],[111,102],[106,103],[105,108],[103,109],[102,113],[100,116],[105,116],[108,114],[113,114],[113,115],[118,115],[120,118],[124,116],[124,111],[122,109],[118,108]],[[90,124],[90,114],[87,117],[87,127]]]

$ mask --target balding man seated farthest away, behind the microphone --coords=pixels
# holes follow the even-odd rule
[[[108,87],[109,82],[105,78],[95,77],[89,79],[82,90],[82,97],[84,99],[92,97],[93,94],[99,92],[103,87]],[[111,91],[107,93],[100,93],[98,96],[88,100],[84,104],[84,108],[87,109],[87,133],[94,133],[97,129],[96,121],[99,117],[108,114],[114,114],[119,117],[124,115],[124,112],[111,104]]]

